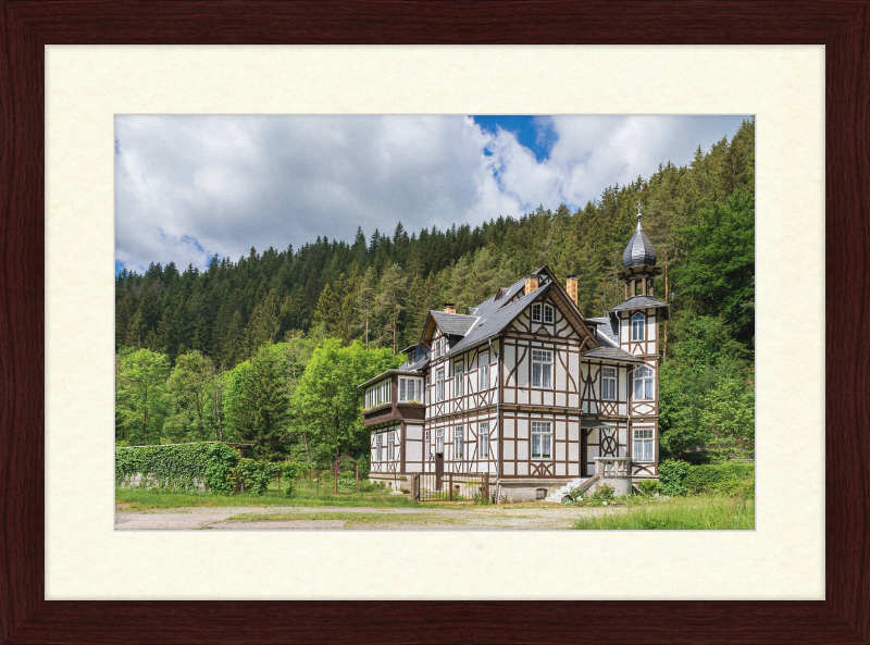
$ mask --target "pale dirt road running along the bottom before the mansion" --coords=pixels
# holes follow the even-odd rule
[[[224,507],[160,510],[115,509],[115,529],[130,530],[534,530],[570,529],[574,520],[608,512],[601,508],[530,503],[443,508]],[[610,511],[612,512],[612,511]]]

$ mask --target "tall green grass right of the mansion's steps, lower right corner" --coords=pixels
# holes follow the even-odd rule
[[[583,518],[574,529],[635,530],[742,530],[755,529],[755,500],[729,497],[675,497],[632,506],[622,512]]]

